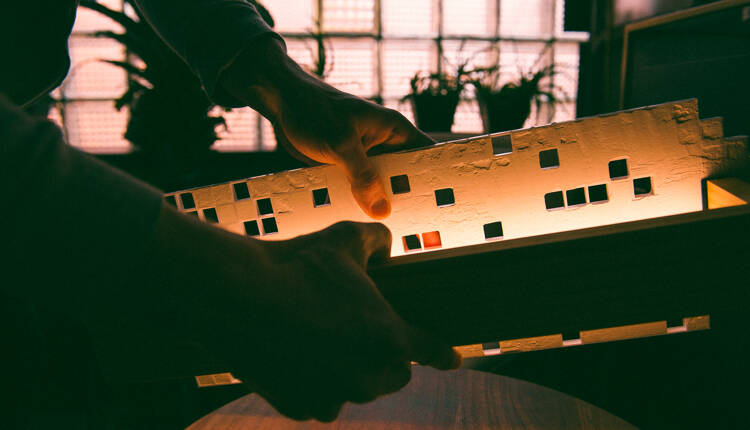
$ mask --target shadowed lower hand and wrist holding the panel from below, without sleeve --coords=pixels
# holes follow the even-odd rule
[[[177,299],[193,321],[187,326],[280,413],[331,421],[347,401],[402,388],[412,361],[460,365],[452,348],[405,323],[367,276],[371,257],[389,255],[382,224],[343,222],[264,242],[167,215],[179,218],[167,220],[179,237],[159,242],[176,240],[165,257],[189,272]]]

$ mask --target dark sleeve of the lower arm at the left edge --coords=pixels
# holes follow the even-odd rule
[[[0,153],[0,296],[106,338],[113,312],[149,278],[161,193],[65,144],[54,124],[2,95]]]

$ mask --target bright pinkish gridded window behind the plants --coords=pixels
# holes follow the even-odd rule
[[[122,0],[99,0],[122,10]],[[499,64],[501,79],[511,80],[539,59],[556,66],[553,84],[565,93],[553,121],[575,118],[579,44],[587,35],[563,31],[564,0],[261,0],[286,40],[289,55],[312,69],[317,58],[313,34],[325,37],[329,59],[325,80],[362,97],[382,102],[413,121],[409,79],[418,71],[455,70],[469,60],[477,66]],[[320,18],[320,19],[319,19]],[[320,23],[318,26],[317,23]],[[114,41],[94,32],[121,31],[119,25],[80,8],[70,38],[72,67],[53,94],[60,101],[50,117],[70,144],[90,152],[132,150],[123,138],[127,109],[117,111],[113,100],[128,85],[127,74],[100,59],[125,60]],[[267,151],[276,148],[268,121],[249,108],[214,113],[226,119],[217,127],[218,151]],[[531,115],[525,126],[546,122],[547,108]],[[453,132],[482,133],[479,108],[471,91],[459,103]]]

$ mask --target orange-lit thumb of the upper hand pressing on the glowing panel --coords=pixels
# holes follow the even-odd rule
[[[350,144],[337,151],[336,164],[344,170],[351,183],[352,195],[360,208],[373,219],[391,213],[391,203],[375,165],[367,158],[362,145]]]

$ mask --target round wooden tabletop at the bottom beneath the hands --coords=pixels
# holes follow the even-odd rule
[[[473,370],[412,368],[403,390],[347,404],[330,424],[297,422],[251,394],[201,418],[189,430],[233,429],[607,429],[632,425],[586,402],[536,384]]]

